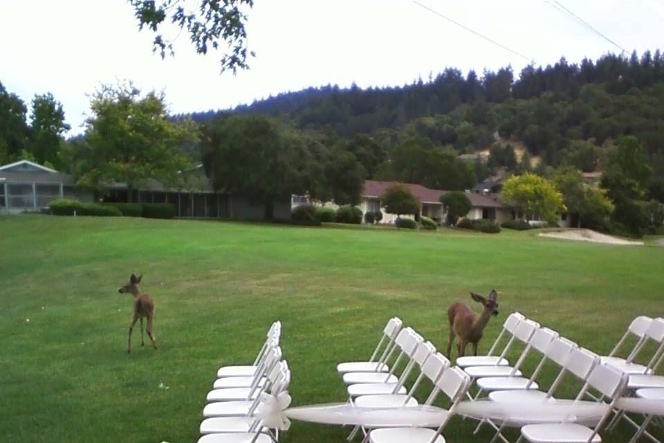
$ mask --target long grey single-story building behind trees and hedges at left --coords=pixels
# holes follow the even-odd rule
[[[263,204],[253,204],[239,195],[216,192],[203,174],[202,165],[187,172],[180,188],[164,186],[160,181],[145,180],[133,190],[132,201],[170,203],[176,217],[259,220]],[[98,192],[75,186],[73,178],[44,165],[22,160],[0,166],[0,213],[40,212],[55,199],[81,201],[127,201],[127,184],[108,183]],[[276,203],[277,219],[291,218],[291,202]]]

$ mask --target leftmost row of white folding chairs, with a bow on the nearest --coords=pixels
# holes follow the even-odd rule
[[[264,394],[288,390],[291,371],[279,347],[282,325],[275,322],[251,365],[223,366],[216,372],[203,408],[199,443],[275,443],[279,430],[264,426],[259,412]]]

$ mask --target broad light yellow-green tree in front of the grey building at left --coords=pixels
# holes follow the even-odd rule
[[[92,116],[85,122],[86,143],[79,159],[77,183],[98,188],[112,181],[127,183],[128,199],[145,179],[176,183],[191,163],[181,150],[196,140],[191,120],[172,121],[163,95],[142,96],[131,84],[105,86],[91,101]]]

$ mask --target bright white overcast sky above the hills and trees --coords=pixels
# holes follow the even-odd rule
[[[481,73],[511,64],[518,74],[528,60],[620,52],[551,1],[420,1],[527,60],[410,0],[255,0],[248,34],[256,57],[234,77],[219,74],[219,55],[196,55],[185,33],[174,58],[153,55],[153,36],[139,33],[124,0],[0,0],[0,82],[28,104],[35,93],[53,93],[75,134],[89,110],[86,94],[118,79],[163,89],[179,113],[327,83],[400,85],[446,66]],[[664,42],[664,0],[558,1],[629,52]]]

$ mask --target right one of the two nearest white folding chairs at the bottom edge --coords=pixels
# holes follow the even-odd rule
[[[613,413],[616,401],[627,387],[628,375],[610,365],[598,365],[590,374],[588,383],[579,393],[581,397],[589,388],[598,390],[602,397],[610,399],[607,412],[594,428],[575,423],[528,424],[521,428],[521,435],[531,443],[600,443],[599,432]],[[521,440],[521,437],[519,437]]]

